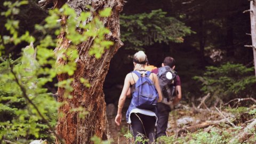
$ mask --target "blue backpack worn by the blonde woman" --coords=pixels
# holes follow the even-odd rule
[[[141,109],[152,109],[156,107],[158,100],[158,93],[154,82],[151,81],[149,75],[150,71],[145,73],[145,77],[142,76],[138,71],[132,71],[139,79],[135,83],[135,90],[132,93],[132,103],[135,107]]]

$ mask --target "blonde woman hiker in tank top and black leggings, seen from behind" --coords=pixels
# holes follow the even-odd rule
[[[162,93],[158,83],[158,78],[156,74],[145,70],[146,63],[147,63],[147,55],[143,51],[139,51],[134,54],[134,57],[133,57],[134,71],[127,74],[125,77],[123,90],[118,101],[118,111],[115,118],[115,123],[118,126],[121,124],[122,108],[124,106],[124,102],[126,99],[126,93],[130,89],[132,93],[132,102],[130,103],[130,106],[126,113],[126,121],[127,123],[131,124],[134,139],[137,136],[143,135],[144,139],[149,139],[148,143],[153,143],[155,141],[157,109],[156,107],[150,107],[150,108],[143,107],[144,108],[143,109],[141,108],[142,106],[138,106],[137,105],[138,103],[136,102],[136,100],[134,100],[138,98],[137,95],[135,95],[138,93],[138,90],[135,90],[135,84],[137,83],[138,80],[141,82],[140,80],[140,76],[141,76],[141,78],[142,77],[147,77],[147,79],[149,78],[150,80],[146,80],[146,81],[149,81],[151,82],[151,84],[154,84],[153,85],[154,90],[156,91],[156,94],[158,93],[158,96],[157,96],[158,100],[156,100],[155,102],[162,101]],[[143,88],[143,89],[146,89],[146,88]],[[147,90],[151,91],[150,88]],[[141,99],[138,99],[138,100],[141,100]],[[144,102],[144,101],[142,100],[141,102]]]

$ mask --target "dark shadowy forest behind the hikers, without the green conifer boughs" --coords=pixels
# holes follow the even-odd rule
[[[141,47],[145,50],[150,65],[160,67],[166,56],[176,60],[175,70],[181,77],[183,100],[203,96],[204,93],[200,91],[201,85],[193,77],[203,76],[206,66],[218,67],[226,62],[241,63],[246,67],[253,66],[252,50],[245,47],[251,45],[251,36],[248,35],[250,14],[244,13],[250,9],[247,1],[131,0],[127,1],[123,14],[150,13],[159,9],[166,12],[165,17],[173,17],[184,23],[190,28],[191,33],[183,37],[182,43],[154,42]],[[121,23],[121,33],[126,31],[127,27],[122,27]],[[124,46],[111,60],[103,89],[107,103],[117,103],[125,75],[133,69],[132,56],[137,50],[127,50],[127,47],[129,42],[125,41]]]

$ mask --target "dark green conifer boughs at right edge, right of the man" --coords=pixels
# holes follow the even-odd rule
[[[255,95],[253,68],[241,64],[228,62],[220,67],[206,67],[203,76],[196,76],[194,79],[202,83],[203,92],[212,93],[224,100]]]

